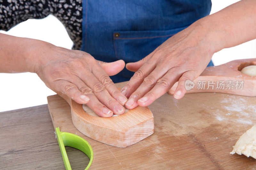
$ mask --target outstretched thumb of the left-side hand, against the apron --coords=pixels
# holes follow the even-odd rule
[[[124,69],[125,63],[124,60],[118,60],[111,63],[106,63],[102,61],[98,61],[100,66],[103,68],[104,71],[108,74],[108,76],[114,76],[120,71]]]

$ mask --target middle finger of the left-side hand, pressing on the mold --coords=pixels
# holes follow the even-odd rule
[[[108,77],[106,73],[104,74],[103,70],[102,72],[104,76]],[[84,81],[84,83],[92,90],[92,92],[94,93],[93,95],[95,95],[102,104],[104,104],[106,107],[112,110],[114,114],[123,114],[125,111],[124,107],[109,94],[106,87],[95,77],[96,75],[92,74],[92,72],[87,72],[85,73],[85,75],[86,78],[84,76],[82,76],[81,78]],[[107,81],[112,82],[110,78]],[[92,96],[92,93],[87,94],[87,96]],[[91,109],[95,111],[94,108]]]

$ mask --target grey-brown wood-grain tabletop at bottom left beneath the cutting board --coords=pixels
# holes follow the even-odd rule
[[[47,105],[0,113],[0,169],[65,169]],[[83,169],[89,158],[67,147],[73,170]]]

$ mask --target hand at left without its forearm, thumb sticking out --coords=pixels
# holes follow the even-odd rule
[[[34,45],[29,54],[37,58],[34,70],[45,85],[77,103],[86,103],[100,117],[124,113],[127,98],[109,78],[123,70],[123,60],[104,63],[83,51],[43,41],[39,44]]]

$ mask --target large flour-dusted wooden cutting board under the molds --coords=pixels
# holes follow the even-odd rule
[[[124,83],[116,84],[123,87]],[[48,97],[53,126],[84,137],[93,149],[90,169],[254,169],[256,160],[231,155],[238,138],[256,124],[256,97],[223,93],[164,94],[149,106],[155,132],[118,148],[84,136],[72,124],[70,107]]]

